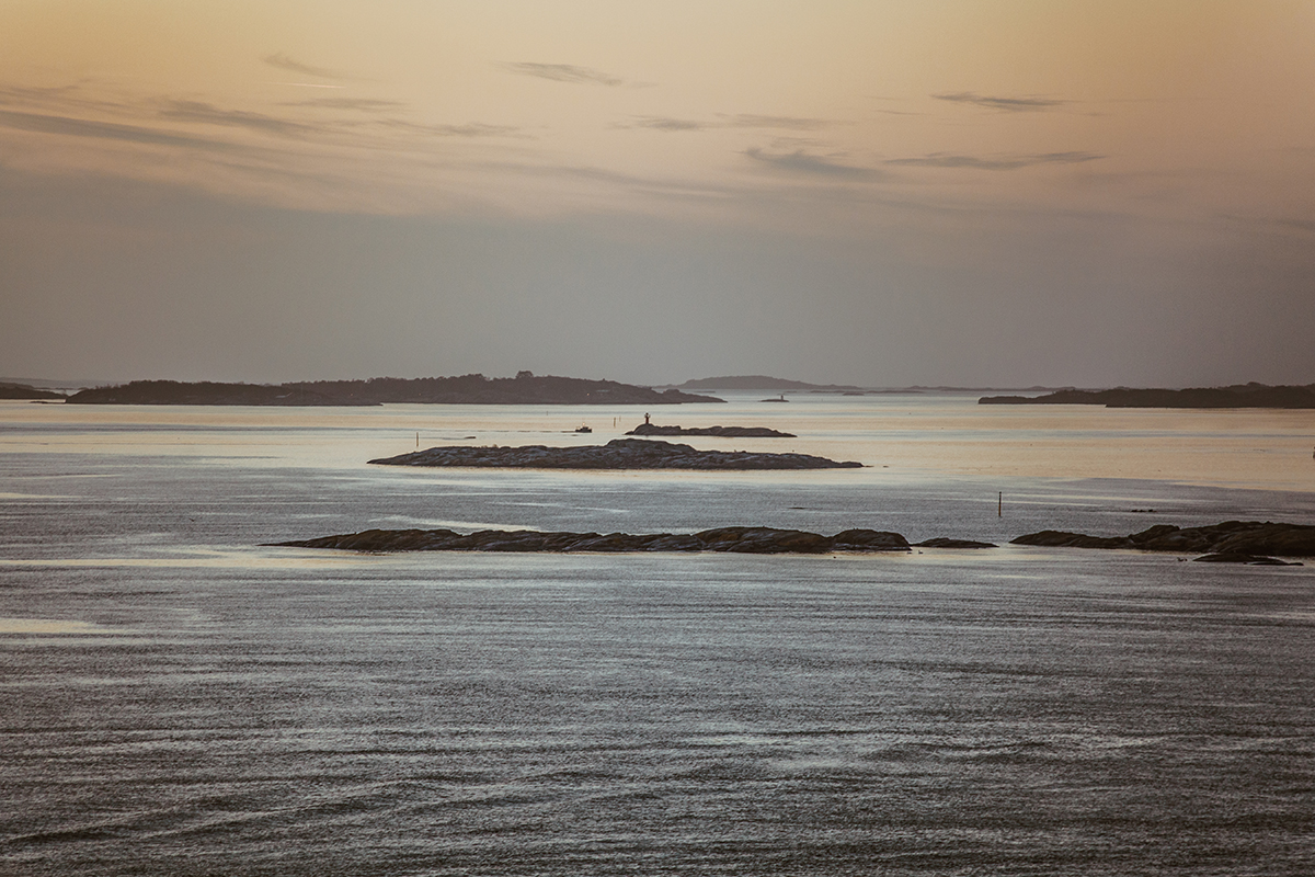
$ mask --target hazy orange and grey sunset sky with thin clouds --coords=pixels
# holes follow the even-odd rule
[[[0,375],[1315,381],[1315,0],[0,0]]]

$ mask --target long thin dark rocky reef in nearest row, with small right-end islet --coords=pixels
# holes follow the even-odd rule
[[[932,544],[952,543],[952,544]],[[831,554],[876,551],[911,551],[909,540],[898,533],[882,530],[844,530],[823,536],[805,530],[775,527],[718,527],[690,534],[654,533],[539,533],[534,530],[480,530],[459,534],[451,530],[363,530],[318,539],[295,539],[270,543],[284,548],[337,548],[342,551],[512,551],[512,552],[602,552],[636,551],[730,554]],[[927,547],[990,547],[959,539],[928,539]]]

